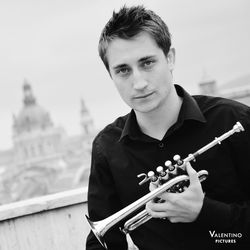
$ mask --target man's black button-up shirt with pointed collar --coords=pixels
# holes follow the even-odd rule
[[[245,249],[240,244],[250,246],[250,108],[223,98],[192,97],[178,85],[176,90],[183,98],[182,107],[162,140],[141,132],[133,110],[97,135],[89,178],[90,219],[104,219],[147,194],[148,184],[139,186],[138,174],[155,171],[175,154],[187,157],[240,121],[245,132],[232,135],[191,162],[196,171],[209,172],[202,183],[205,199],[196,221],[151,219],[132,231],[131,237],[140,250]],[[105,234],[108,249],[127,249],[118,229],[123,223]],[[86,249],[103,249],[92,232]]]

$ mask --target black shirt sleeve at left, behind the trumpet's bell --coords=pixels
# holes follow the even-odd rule
[[[100,138],[92,145],[91,170],[88,187],[88,214],[91,221],[107,218],[121,209],[109,164],[104,156]],[[105,236],[108,249],[128,249],[126,236],[117,228],[111,228]],[[90,232],[86,240],[86,250],[104,249],[95,235]]]

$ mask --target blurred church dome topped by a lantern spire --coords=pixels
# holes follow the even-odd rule
[[[24,99],[23,108],[14,117],[13,130],[18,135],[35,129],[46,129],[52,126],[49,113],[36,103],[30,84],[23,85]]]

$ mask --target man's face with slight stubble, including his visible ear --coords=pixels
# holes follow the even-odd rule
[[[130,40],[114,39],[107,60],[122,99],[136,112],[148,113],[167,103],[173,89],[173,50],[167,58],[154,39],[141,32]]]

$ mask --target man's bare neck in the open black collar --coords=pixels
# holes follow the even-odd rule
[[[140,129],[144,134],[161,140],[168,129],[176,123],[181,104],[182,98],[177,95],[173,87],[161,106],[146,113],[135,111]]]

